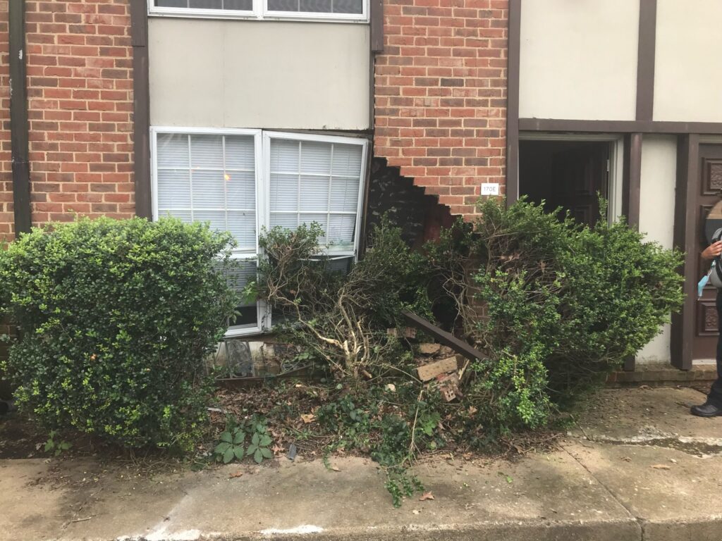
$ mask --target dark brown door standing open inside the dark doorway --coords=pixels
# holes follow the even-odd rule
[[[599,219],[599,197],[608,196],[609,144],[585,143],[560,151],[552,159],[554,190],[550,206],[570,211],[580,224]]]

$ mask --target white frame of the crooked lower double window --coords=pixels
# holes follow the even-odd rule
[[[329,259],[347,259],[353,258],[358,260],[358,250],[361,238],[361,220],[362,208],[365,196],[365,177],[367,170],[367,154],[368,139],[364,137],[342,137],[316,135],[313,133],[292,133],[282,131],[265,131],[258,129],[241,129],[241,128],[191,128],[179,126],[152,126],[150,128],[150,186],[151,186],[151,203],[152,203],[152,219],[156,221],[160,218],[158,211],[158,150],[157,136],[161,133],[179,133],[181,135],[219,135],[219,136],[253,136],[253,150],[255,159],[255,177],[256,177],[256,252],[244,252],[241,250],[233,250],[232,259],[253,259],[257,260],[261,257],[261,247],[258,246],[258,236],[264,229],[269,229],[271,216],[271,201],[269,197],[270,181],[271,181],[271,139],[287,139],[290,141],[314,141],[318,143],[329,144],[355,144],[361,146],[361,171],[359,177],[359,192],[356,207],[356,224],[354,233],[353,250],[331,250],[327,253]],[[191,167],[191,164],[188,164]],[[330,226],[330,221],[326,224]],[[324,253],[326,255],[326,253]],[[271,307],[266,302],[258,301],[256,303],[257,322],[256,327],[232,328],[230,327],[225,333],[225,338],[234,338],[239,336],[258,335],[271,329]]]

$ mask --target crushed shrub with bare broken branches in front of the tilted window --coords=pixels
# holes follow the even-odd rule
[[[277,330],[336,377],[369,379],[399,356],[387,330],[401,325],[401,310],[430,314],[425,260],[383,219],[364,257],[339,273],[321,255],[321,234],[318,224],[264,232],[258,281],[247,293],[283,313],[286,323]]]

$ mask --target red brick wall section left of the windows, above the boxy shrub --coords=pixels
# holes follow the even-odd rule
[[[32,223],[133,216],[129,1],[26,6]]]

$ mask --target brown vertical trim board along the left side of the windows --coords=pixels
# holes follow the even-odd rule
[[[136,216],[152,217],[150,194],[150,82],[148,72],[148,6],[131,0],[133,45],[133,175]]]

